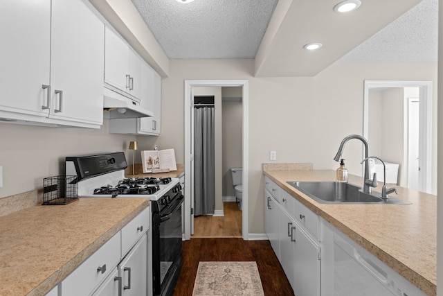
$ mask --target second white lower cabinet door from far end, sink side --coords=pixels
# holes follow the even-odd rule
[[[287,214],[282,214],[280,217],[280,227],[279,227],[279,237],[280,237],[280,263],[282,264],[282,268],[286,277],[289,280],[293,290],[295,290],[294,286],[294,268],[296,266],[295,262],[295,252],[294,252],[294,243],[291,241],[293,237],[293,227],[294,223],[291,218]],[[299,295],[299,294],[297,294]],[[304,295],[304,294],[300,294]]]

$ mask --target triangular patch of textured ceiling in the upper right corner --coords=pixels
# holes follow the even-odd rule
[[[341,58],[346,62],[437,61],[438,0],[424,0]]]

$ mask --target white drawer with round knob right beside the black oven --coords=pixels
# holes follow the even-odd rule
[[[122,228],[122,256],[131,249],[150,227],[151,207],[148,206]]]

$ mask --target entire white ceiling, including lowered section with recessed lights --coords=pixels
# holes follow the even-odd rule
[[[337,60],[437,60],[438,0],[362,0],[346,15],[332,11],[341,0],[131,1],[168,58],[255,58],[255,76],[315,76]],[[323,47],[307,52],[308,42]]]

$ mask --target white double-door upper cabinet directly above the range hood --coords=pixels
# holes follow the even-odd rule
[[[141,101],[141,59],[111,28],[105,31],[105,86]]]

